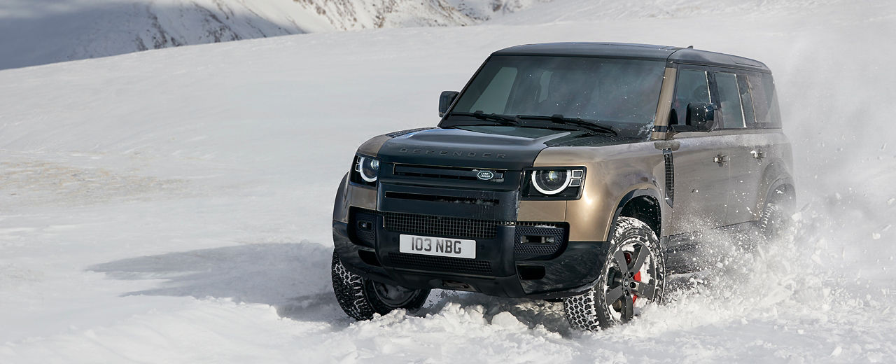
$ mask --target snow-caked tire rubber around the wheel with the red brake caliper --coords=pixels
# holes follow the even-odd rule
[[[610,268],[613,265],[616,251],[621,251],[623,247],[640,245],[641,247],[649,248],[650,259],[653,262],[652,264],[654,264],[652,274],[655,274],[653,277],[655,286],[653,297],[647,300],[654,303],[659,303],[662,300],[665,289],[666,267],[662,251],[659,249],[659,239],[656,233],[645,222],[630,217],[618,218],[615,227],[613,238],[610,239],[609,247],[607,247],[607,258],[603,266],[600,267],[598,282],[582,295],[564,299],[566,320],[569,321],[573,328],[592,331],[624,323],[631,319],[631,317],[623,317],[622,320],[617,319],[610,312],[610,309],[613,308],[608,308],[605,296],[607,290],[605,290],[604,282],[607,282],[611,274]],[[625,297],[627,296],[624,295],[617,302],[624,302]],[[639,297],[638,299],[646,298]],[[625,313],[621,313],[620,316],[625,316]]]

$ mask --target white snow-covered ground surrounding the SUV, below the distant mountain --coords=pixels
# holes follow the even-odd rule
[[[896,5],[722,11],[734,3],[639,15],[558,0],[477,27],[0,71],[0,362],[894,362]],[[769,65],[796,236],[757,255],[719,242],[718,271],[603,332],[571,331],[557,304],[451,291],[416,315],[350,320],[330,286],[330,220],[358,143],[435,125],[438,92],[491,51],[556,40]]]

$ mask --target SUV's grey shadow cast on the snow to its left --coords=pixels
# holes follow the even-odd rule
[[[295,320],[332,321],[345,316],[332,293],[331,255],[332,247],[303,240],[140,256],[88,270],[117,280],[161,281],[122,296],[226,298],[271,305]]]

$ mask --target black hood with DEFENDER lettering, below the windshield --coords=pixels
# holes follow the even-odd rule
[[[384,162],[451,167],[521,170],[538,152],[571,133],[516,126],[463,126],[404,134],[385,143]]]

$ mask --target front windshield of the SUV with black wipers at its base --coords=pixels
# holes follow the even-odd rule
[[[560,114],[648,136],[663,72],[664,62],[659,60],[492,56],[448,118],[467,118],[469,114],[461,115],[478,111],[508,116]]]

